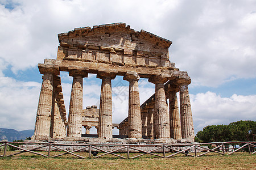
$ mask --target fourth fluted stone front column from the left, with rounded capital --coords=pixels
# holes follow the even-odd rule
[[[142,138],[141,105],[139,104],[139,75],[135,72],[127,72],[123,76],[129,82],[129,138]]]

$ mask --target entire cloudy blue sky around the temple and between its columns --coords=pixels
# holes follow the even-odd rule
[[[34,129],[42,83],[37,64],[56,58],[58,33],[117,22],[173,42],[170,61],[192,79],[195,132],[256,121],[255,1],[0,0],[0,128]],[[68,108],[72,78],[61,73],[61,81]],[[143,103],[154,85],[139,82]],[[112,84],[118,123],[127,116],[129,84],[121,76]],[[100,86],[96,75],[84,78],[84,108],[98,105]]]

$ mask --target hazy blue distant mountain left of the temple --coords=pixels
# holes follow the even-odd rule
[[[20,140],[20,139],[24,140],[28,137],[31,137],[32,135],[34,135],[34,130],[17,131],[14,129],[0,128],[0,141],[1,140],[14,141],[14,140]]]

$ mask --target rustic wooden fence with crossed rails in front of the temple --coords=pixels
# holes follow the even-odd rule
[[[15,145],[19,146],[15,146]],[[233,151],[230,151],[230,148],[226,148],[227,145],[238,145],[240,144],[239,148],[233,147]],[[210,149],[205,145],[216,145],[216,147]],[[17,148],[18,151],[13,154],[7,155],[7,148],[14,147]],[[27,149],[26,146],[32,146],[33,148]],[[75,152],[88,152],[88,158],[100,158],[105,155],[114,155],[118,158],[123,159],[134,159],[140,156],[149,154],[154,155],[160,158],[171,158],[177,154],[183,154],[185,156],[192,156],[192,157],[199,157],[203,155],[207,155],[210,152],[214,152],[220,155],[230,155],[237,151],[245,151],[246,148],[249,154],[255,154],[256,150],[256,142],[211,142],[211,143],[192,143],[192,144],[168,144],[168,143],[160,143],[154,145],[134,145],[134,144],[108,144],[108,143],[89,143],[89,144],[63,144],[63,143],[48,143],[48,142],[0,142],[0,147],[3,148],[3,155],[0,152],[0,157],[10,157],[18,154],[22,154],[24,152],[30,152],[31,154],[40,155],[46,158],[56,158],[62,155],[71,154],[75,157],[85,159],[84,156],[79,155]],[[62,148],[61,148],[62,147]],[[69,151],[64,149],[63,147],[80,147],[79,149]],[[104,149],[102,148],[104,147]],[[111,148],[114,149],[105,149]],[[177,150],[177,147],[179,150]],[[47,155],[42,154],[41,151],[36,150],[44,150],[47,151]],[[143,148],[143,149],[142,149]],[[147,148],[145,150],[145,148]],[[148,151],[149,150],[149,151]],[[52,155],[51,153],[54,151],[63,151],[64,153],[58,155]],[[103,152],[100,155],[96,156],[98,152]],[[131,152],[137,152],[139,155],[130,156]],[[203,153],[201,153],[203,152]],[[119,155],[120,153],[127,153],[127,156]],[[168,154],[169,155],[168,155]],[[199,154],[200,153],[200,154]],[[95,155],[95,156],[92,156]],[[199,155],[198,155],[199,154]]]

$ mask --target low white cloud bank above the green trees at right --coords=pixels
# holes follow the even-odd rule
[[[221,97],[208,91],[190,96],[196,132],[208,125],[256,120],[256,95]]]

